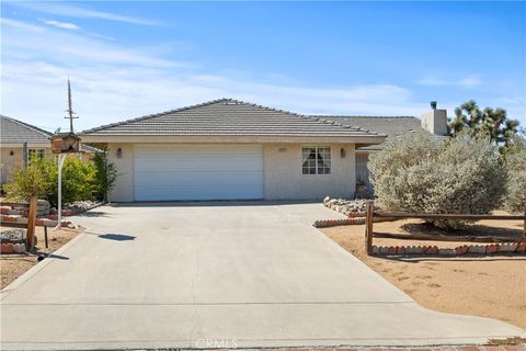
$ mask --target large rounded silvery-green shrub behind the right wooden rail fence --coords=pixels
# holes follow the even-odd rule
[[[412,213],[485,214],[501,204],[506,182],[499,147],[466,135],[438,141],[425,132],[407,134],[373,155],[369,170],[380,206]]]

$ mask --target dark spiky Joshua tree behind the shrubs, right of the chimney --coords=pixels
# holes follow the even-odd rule
[[[518,121],[508,120],[506,110],[485,107],[480,110],[470,100],[455,109],[455,118],[449,122],[451,136],[468,133],[472,136],[487,136],[500,146],[507,147],[518,133]]]

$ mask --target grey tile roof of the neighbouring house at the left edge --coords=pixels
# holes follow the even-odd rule
[[[46,144],[52,133],[19,120],[0,115],[0,144]]]

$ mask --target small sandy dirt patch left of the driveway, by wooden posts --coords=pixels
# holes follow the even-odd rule
[[[3,228],[10,229],[10,228]],[[60,230],[53,230],[53,228],[47,228],[48,244],[49,249],[45,248],[44,244],[44,228],[36,227],[36,237],[37,237],[37,248],[42,252],[48,252],[47,250],[56,251],[58,248],[64,246],[66,242],[75,238],[82,229],[69,229],[64,228]],[[0,278],[1,284],[0,288],[4,288],[16,278],[24,274],[33,265],[38,263],[37,254],[0,254]]]

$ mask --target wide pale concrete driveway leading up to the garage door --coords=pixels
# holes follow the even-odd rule
[[[511,325],[430,312],[311,226],[320,204],[104,206],[2,292],[2,349],[479,343]],[[481,302],[483,303],[483,302]]]

